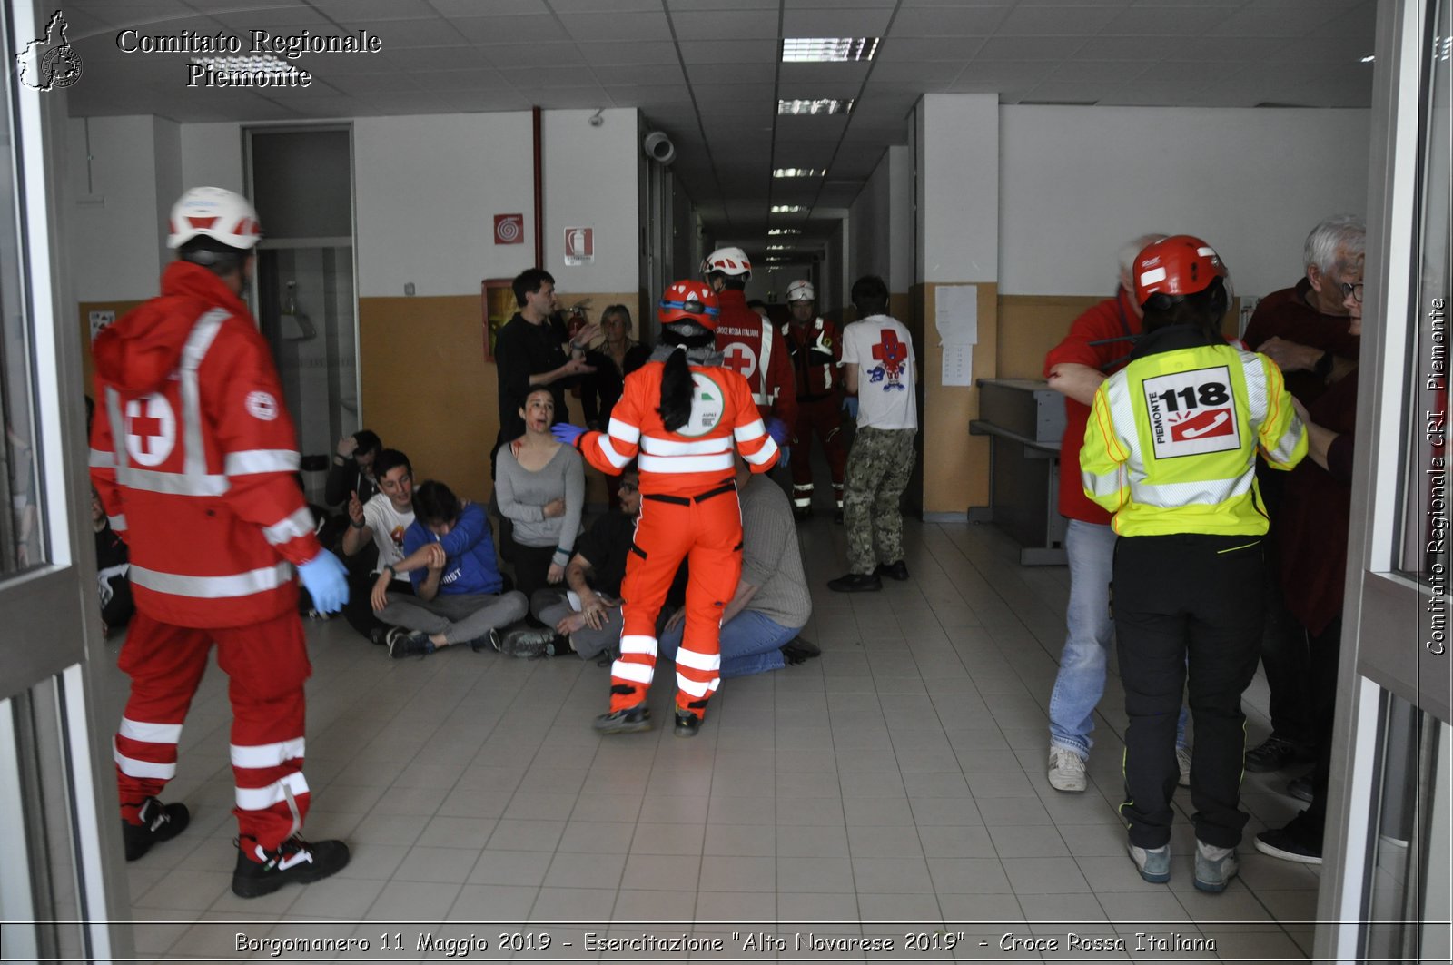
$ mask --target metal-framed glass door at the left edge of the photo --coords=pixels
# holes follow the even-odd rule
[[[7,64],[20,51],[33,61],[45,35],[32,4],[0,7]],[[78,526],[80,333],[52,275],[64,94],[36,71],[0,81],[0,956],[97,961],[129,955],[129,930],[110,924],[126,891],[109,727],[86,673],[103,654],[93,541]]]

